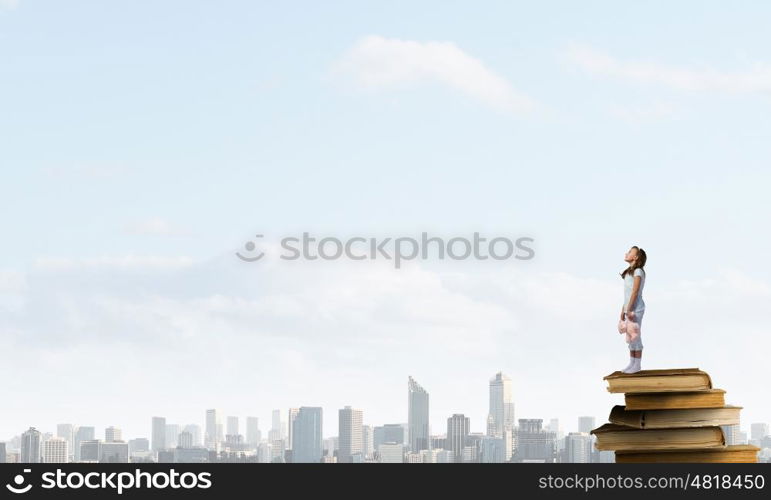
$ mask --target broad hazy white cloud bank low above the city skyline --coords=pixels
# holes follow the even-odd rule
[[[156,414],[200,421],[221,406],[267,417],[302,404],[325,408],[329,434],[344,404],[364,408],[370,424],[403,421],[408,374],[431,392],[435,428],[460,411],[483,430],[486,383],[498,370],[514,378],[522,418],[603,418],[611,402],[601,377],[626,364],[617,277],[515,264],[263,264],[128,255],[47,259],[0,274],[0,292],[19,299],[0,315],[0,378],[36,360],[23,383],[6,388],[19,410],[0,436],[53,419],[138,436]],[[750,418],[767,417],[771,407],[753,394],[770,347],[768,283],[732,269],[701,276],[649,280],[644,366],[700,366]],[[73,408],[73,392],[99,404]]]

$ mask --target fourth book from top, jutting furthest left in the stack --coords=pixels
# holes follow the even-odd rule
[[[669,429],[635,429],[626,425],[603,424],[592,429],[598,450],[665,450],[723,448],[725,435],[718,426]]]

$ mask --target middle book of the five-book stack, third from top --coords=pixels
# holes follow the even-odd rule
[[[626,425],[637,429],[736,425],[739,423],[741,409],[741,406],[727,405],[722,408],[628,410],[624,405],[616,405],[610,410],[608,420],[612,424]]]

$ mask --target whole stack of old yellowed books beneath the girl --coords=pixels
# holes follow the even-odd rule
[[[593,429],[598,450],[613,450],[616,463],[755,463],[760,448],[726,445],[720,426],[739,424],[741,406],[725,404],[698,368],[613,372],[608,391],[624,393],[609,422]]]

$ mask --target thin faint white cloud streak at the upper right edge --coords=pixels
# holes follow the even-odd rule
[[[568,61],[592,74],[657,84],[677,90],[730,93],[771,91],[771,65],[767,63],[757,62],[743,72],[684,68],[652,61],[625,61],[579,44],[571,44],[566,56]]]

